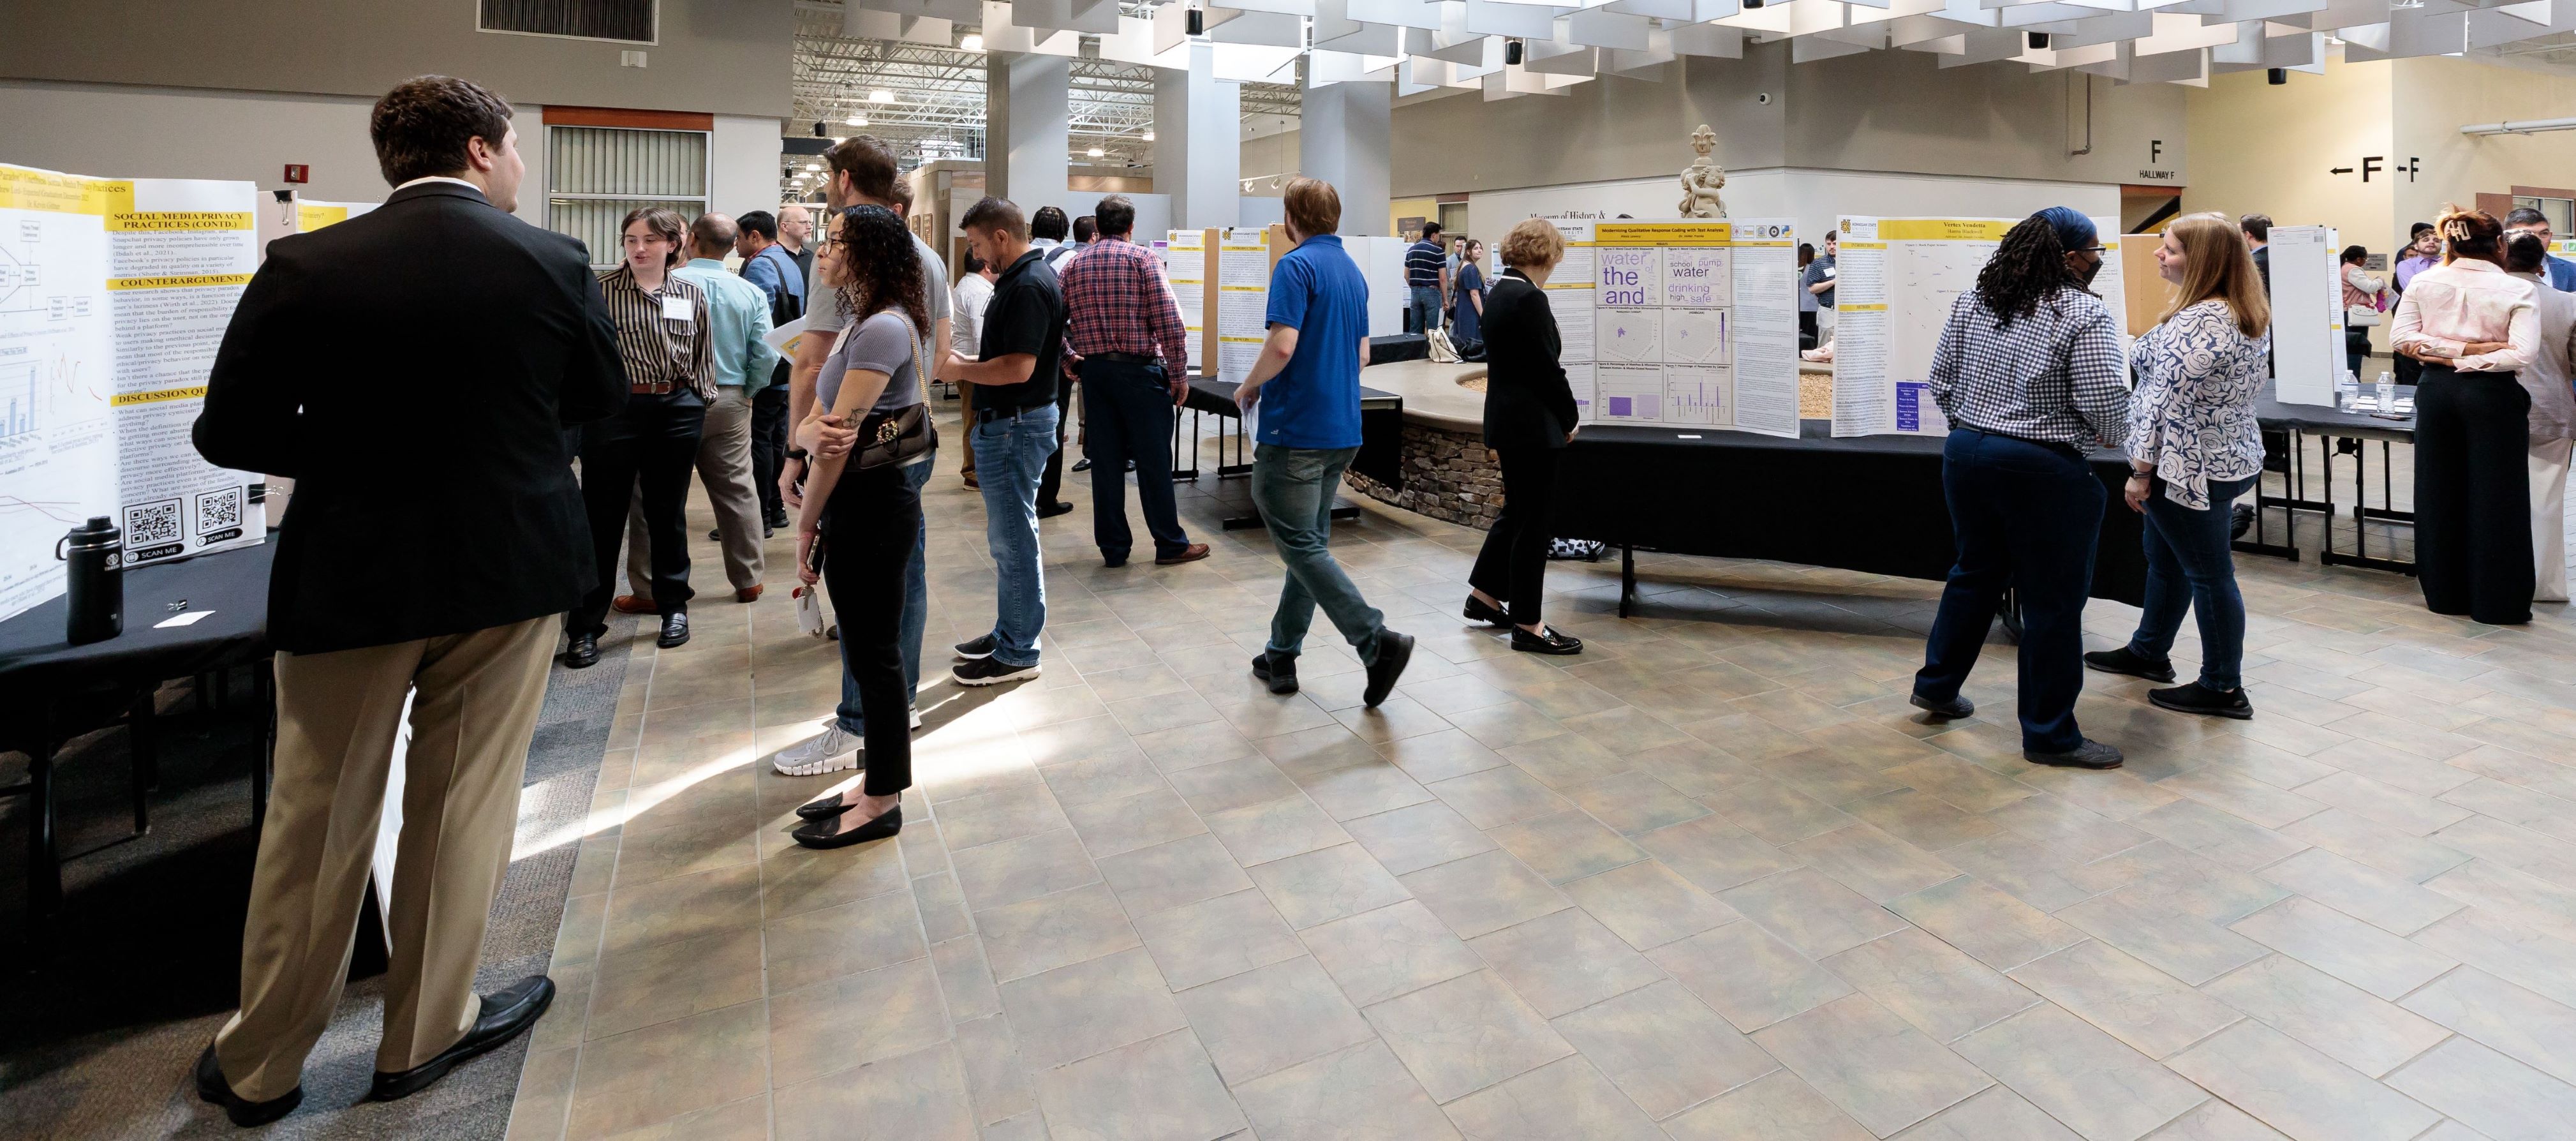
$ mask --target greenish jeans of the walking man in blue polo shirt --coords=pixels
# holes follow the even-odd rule
[[[1342,641],[1360,654],[1360,662],[1378,659],[1378,634],[1386,631],[1381,616],[1360,587],[1332,561],[1332,497],[1342,487],[1342,469],[1360,448],[1280,448],[1262,443],[1252,448],[1252,505],[1270,528],[1270,546],[1288,564],[1288,582],[1280,585],[1280,608],[1270,616],[1270,652],[1296,654],[1306,646],[1306,628],[1314,626],[1314,608],[1342,631]]]

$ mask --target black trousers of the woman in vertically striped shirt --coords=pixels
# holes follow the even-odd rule
[[[706,404],[693,391],[634,394],[626,412],[582,425],[582,507],[590,515],[590,551],[600,580],[582,605],[564,616],[569,634],[603,634],[608,598],[621,574],[626,507],[644,492],[644,533],[652,538],[652,603],[662,613],[688,610],[688,474],[698,464]]]

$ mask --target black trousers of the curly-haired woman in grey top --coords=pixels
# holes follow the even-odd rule
[[[822,582],[840,616],[840,659],[868,719],[868,796],[912,788],[912,698],[904,695],[904,567],[922,492],[899,466],[842,469],[822,510]]]

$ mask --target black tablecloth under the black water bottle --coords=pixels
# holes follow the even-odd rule
[[[26,703],[113,685],[149,685],[222,665],[268,657],[268,561],[276,541],[124,572],[126,631],[72,646],[62,641],[67,598],[0,623],[0,721],[23,721]],[[188,600],[188,626],[155,628]]]

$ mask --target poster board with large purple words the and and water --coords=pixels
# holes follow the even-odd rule
[[[1551,219],[1558,361],[1584,425],[1798,435],[1790,219]]]

